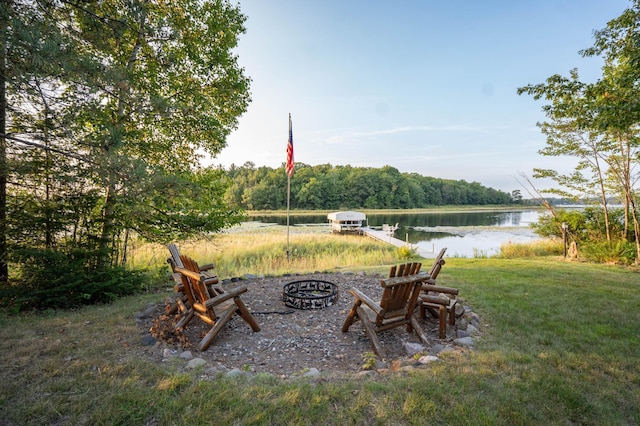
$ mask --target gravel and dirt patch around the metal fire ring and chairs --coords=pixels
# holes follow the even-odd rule
[[[207,361],[210,367],[220,371],[238,368],[253,373],[269,373],[278,376],[300,374],[311,368],[322,373],[358,372],[365,359],[373,352],[369,339],[358,321],[343,333],[342,324],[353,306],[354,298],[349,292],[357,288],[379,301],[382,295],[379,275],[358,274],[310,274],[277,278],[254,278],[242,280],[248,292],[242,300],[252,311],[261,331],[253,332],[238,315],[216,337],[213,344],[203,352],[197,345],[201,336],[209,330],[198,318],[194,318],[183,334],[171,332],[174,320],[169,316],[156,316],[143,323],[144,327],[154,323],[156,338],[167,342],[177,352],[191,350],[194,357]],[[298,280],[323,280],[336,284],[338,297],[335,303],[323,309],[300,310],[285,305],[283,286]],[[227,283],[232,288],[239,283]],[[447,339],[438,339],[438,322],[428,315],[420,320],[422,328],[431,338],[425,345],[426,353],[431,347],[451,345],[456,327],[449,327]],[[164,333],[162,332],[164,330]],[[379,334],[388,361],[412,359],[405,343],[420,344],[415,333],[405,327],[396,327]],[[160,351],[161,349],[159,349]]]

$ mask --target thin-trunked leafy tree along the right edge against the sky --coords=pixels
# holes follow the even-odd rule
[[[590,169],[605,206],[607,189],[622,189],[625,224],[633,224],[636,263],[640,263],[636,188],[640,179],[640,0],[596,31],[594,46],[581,53],[603,57],[603,75],[596,83],[582,83],[577,72],[572,72],[569,79],[553,76],[546,84],[529,85],[518,92],[551,101],[543,107],[550,118],[541,126],[548,136],[543,155],[579,158],[574,175],[542,171],[543,175],[576,189],[592,182],[580,173]]]

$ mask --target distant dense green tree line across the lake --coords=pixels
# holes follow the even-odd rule
[[[226,170],[233,182],[225,200],[248,210],[287,207],[284,166],[256,167],[247,162]],[[413,209],[442,205],[513,204],[517,191],[508,194],[478,182],[448,180],[396,168],[311,166],[297,163],[291,178],[290,207],[305,210]]]

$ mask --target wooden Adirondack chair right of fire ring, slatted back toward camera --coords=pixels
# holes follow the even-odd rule
[[[379,304],[360,290],[351,289],[350,292],[356,300],[342,325],[342,332],[349,330],[351,324],[358,319],[362,321],[364,332],[371,340],[373,350],[382,359],[386,358],[386,352],[378,338],[379,332],[406,325],[408,332],[415,331],[420,340],[429,343],[413,315],[422,281],[426,277],[424,274],[418,275],[420,267],[420,263],[392,267],[390,273],[392,277],[380,281],[384,291]]]

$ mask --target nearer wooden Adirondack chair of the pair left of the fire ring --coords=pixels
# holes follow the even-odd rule
[[[258,322],[240,299],[240,295],[247,291],[247,286],[236,287],[212,297],[205,284],[205,275],[180,267],[176,267],[176,272],[180,274],[191,305],[179,326],[186,326],[194,316],[211,325],[211,330],[200,341],[198,350],[205,351],[211,345],[234,313],[244,319],[253,331],[260,331]]]

